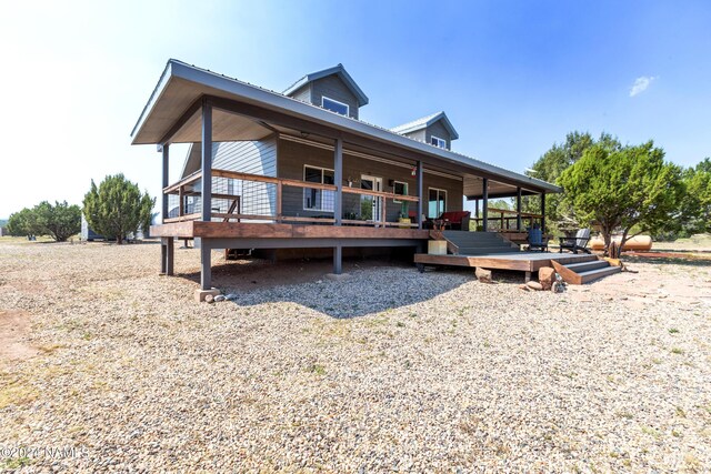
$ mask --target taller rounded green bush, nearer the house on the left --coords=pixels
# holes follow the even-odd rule
[[[109,175],[98,186],[91,180],[84,195],[84,216],[94,232],[122,243],[139,228],[148,231],[154,204],[154,198],[141,194],[138,184],[123,174]]]

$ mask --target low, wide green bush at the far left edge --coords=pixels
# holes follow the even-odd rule
[[[67,201],[56,201],[54,205],[42,201],[10,215],[8,226],[11,235],[50,235],[64,242],[81,230],[81,209]]]

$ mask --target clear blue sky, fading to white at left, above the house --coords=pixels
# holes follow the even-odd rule
[[[572,130],[692,165],[711,155],[710,24],[708,1],[8,2],[0,218],[117,172],[158,195],[160,155],[129,133],[169,58],[278,91],[341,62],[361,119],[444,110],[455,151],[519,172]]]

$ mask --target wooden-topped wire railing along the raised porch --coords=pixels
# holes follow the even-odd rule
[[[244,183],[259,183],[261,186],[258,192],[252,193],[236,193],[236,192],[212,192],[212,200],[218,200],[218,206],[213,206],[211,213],[212,219],[220,219],[223,222],[243,222],[243,221],[271,221],[278,223],[323,223],[336,224],[336,219],[322,215],[298,215],[301,212],[310,214],[332,214],[332,210],[303,210],[297,212],[297,215],[287,215],[283,211],[284,208],[284,192],[289,189],[299,190],[319,190],[321,192],[336,193],[338,188],[334,184],[323,184],[309,181],[299,181],[284,178],[263,177],[260,174],[242,173],[230,170],[212,170],[212,178],[223,180],[237,180],[241,183],[242,190],[244,190]],[[201,219],[200,212],[189,212],[199,208],[200,191],[197,183],[202,179],[201,172],[196,172],[181,181],[171,184],[163,189],[163,193],[168,195],[178,196],[178,215],[172,215],[163,220],[164,223],[182,222]],[[213,185],[213,189],[216,186]],[[224,186],[222,186],[224,188]],[[341,223],[346,225],[369,225],[369,226],[402,226],[402,228],[417,228],[417,222],[401,223],[399,221],[388,221],[388,209],[392,210],[392,205],[402,206],[402,202],[417,203],[419,196],[401,195],[383,191],[372,191],[360,188],[342,186],[341,192],[343,194],[343,201],[348,195],[359,196],[357,201],[359,211],[361,205],[360,196],[370,196],[371,202],[375,202],[372,205],[372,210],[367,218],[353,219],[353,216],[360,214],[360,212],[344,213]],[[187,198],[192,198],[192,203],[187,203]],[[326,196],[321,195],[323,200]],[[292,194],[292,199],[296,199]],[[390,206],[388,205],[390,201]],[[399,202],[395,202],[399,201]],[[273,203],[273,205],[272,205]],[[368,205],[368,204],[367,204]],[[221,212],[221,208],[226,208],[227,212]],[[174,206],[173,206],[174,209]],[[246,210],[259,210],[259,212],[246,212]],[[216,212],[217,211],[217,212]],[[293,213],[293,212],[291,212]],[[378,214],[378,215],[373,215]]]

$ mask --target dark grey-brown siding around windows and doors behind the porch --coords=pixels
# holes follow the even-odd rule
[[[304,143],[297,143],[289,140],[279,140],[278,175],[292,180],[303,180],[304,165],[333,169],[333,152],[322,148],[311,147]],[[360,188],[361,175],[367,174],[382,178],[383,191],[392,192],[390,180],[400,181],[408,184],[408,194],[417,194],[417,181],[408,168],[382,163],[380,161],[368,160],[360,157],[343,153],[343,186],[348,186],[348,180],[353,182],[354,188]],[[423,191],[428,195],[429,188],[437,188],[447,191],[447,210],[461,211],[463,205],[463,183],[460,180],[424,173]],[[303,209],[303,190],[286,186],[283,189],[282,213],[289,216],[323,216],[332,218],[333,212],[311,211]],[[358,194],[343,193],[343,214],[360,215],[361,198]],[[385,203],[387,220],[395,222],[401,211],[401,204],[392,200]],[[427,214],[427,202],[423,210]],[[417,214],[417,203],[411,202],[408,211]]]

